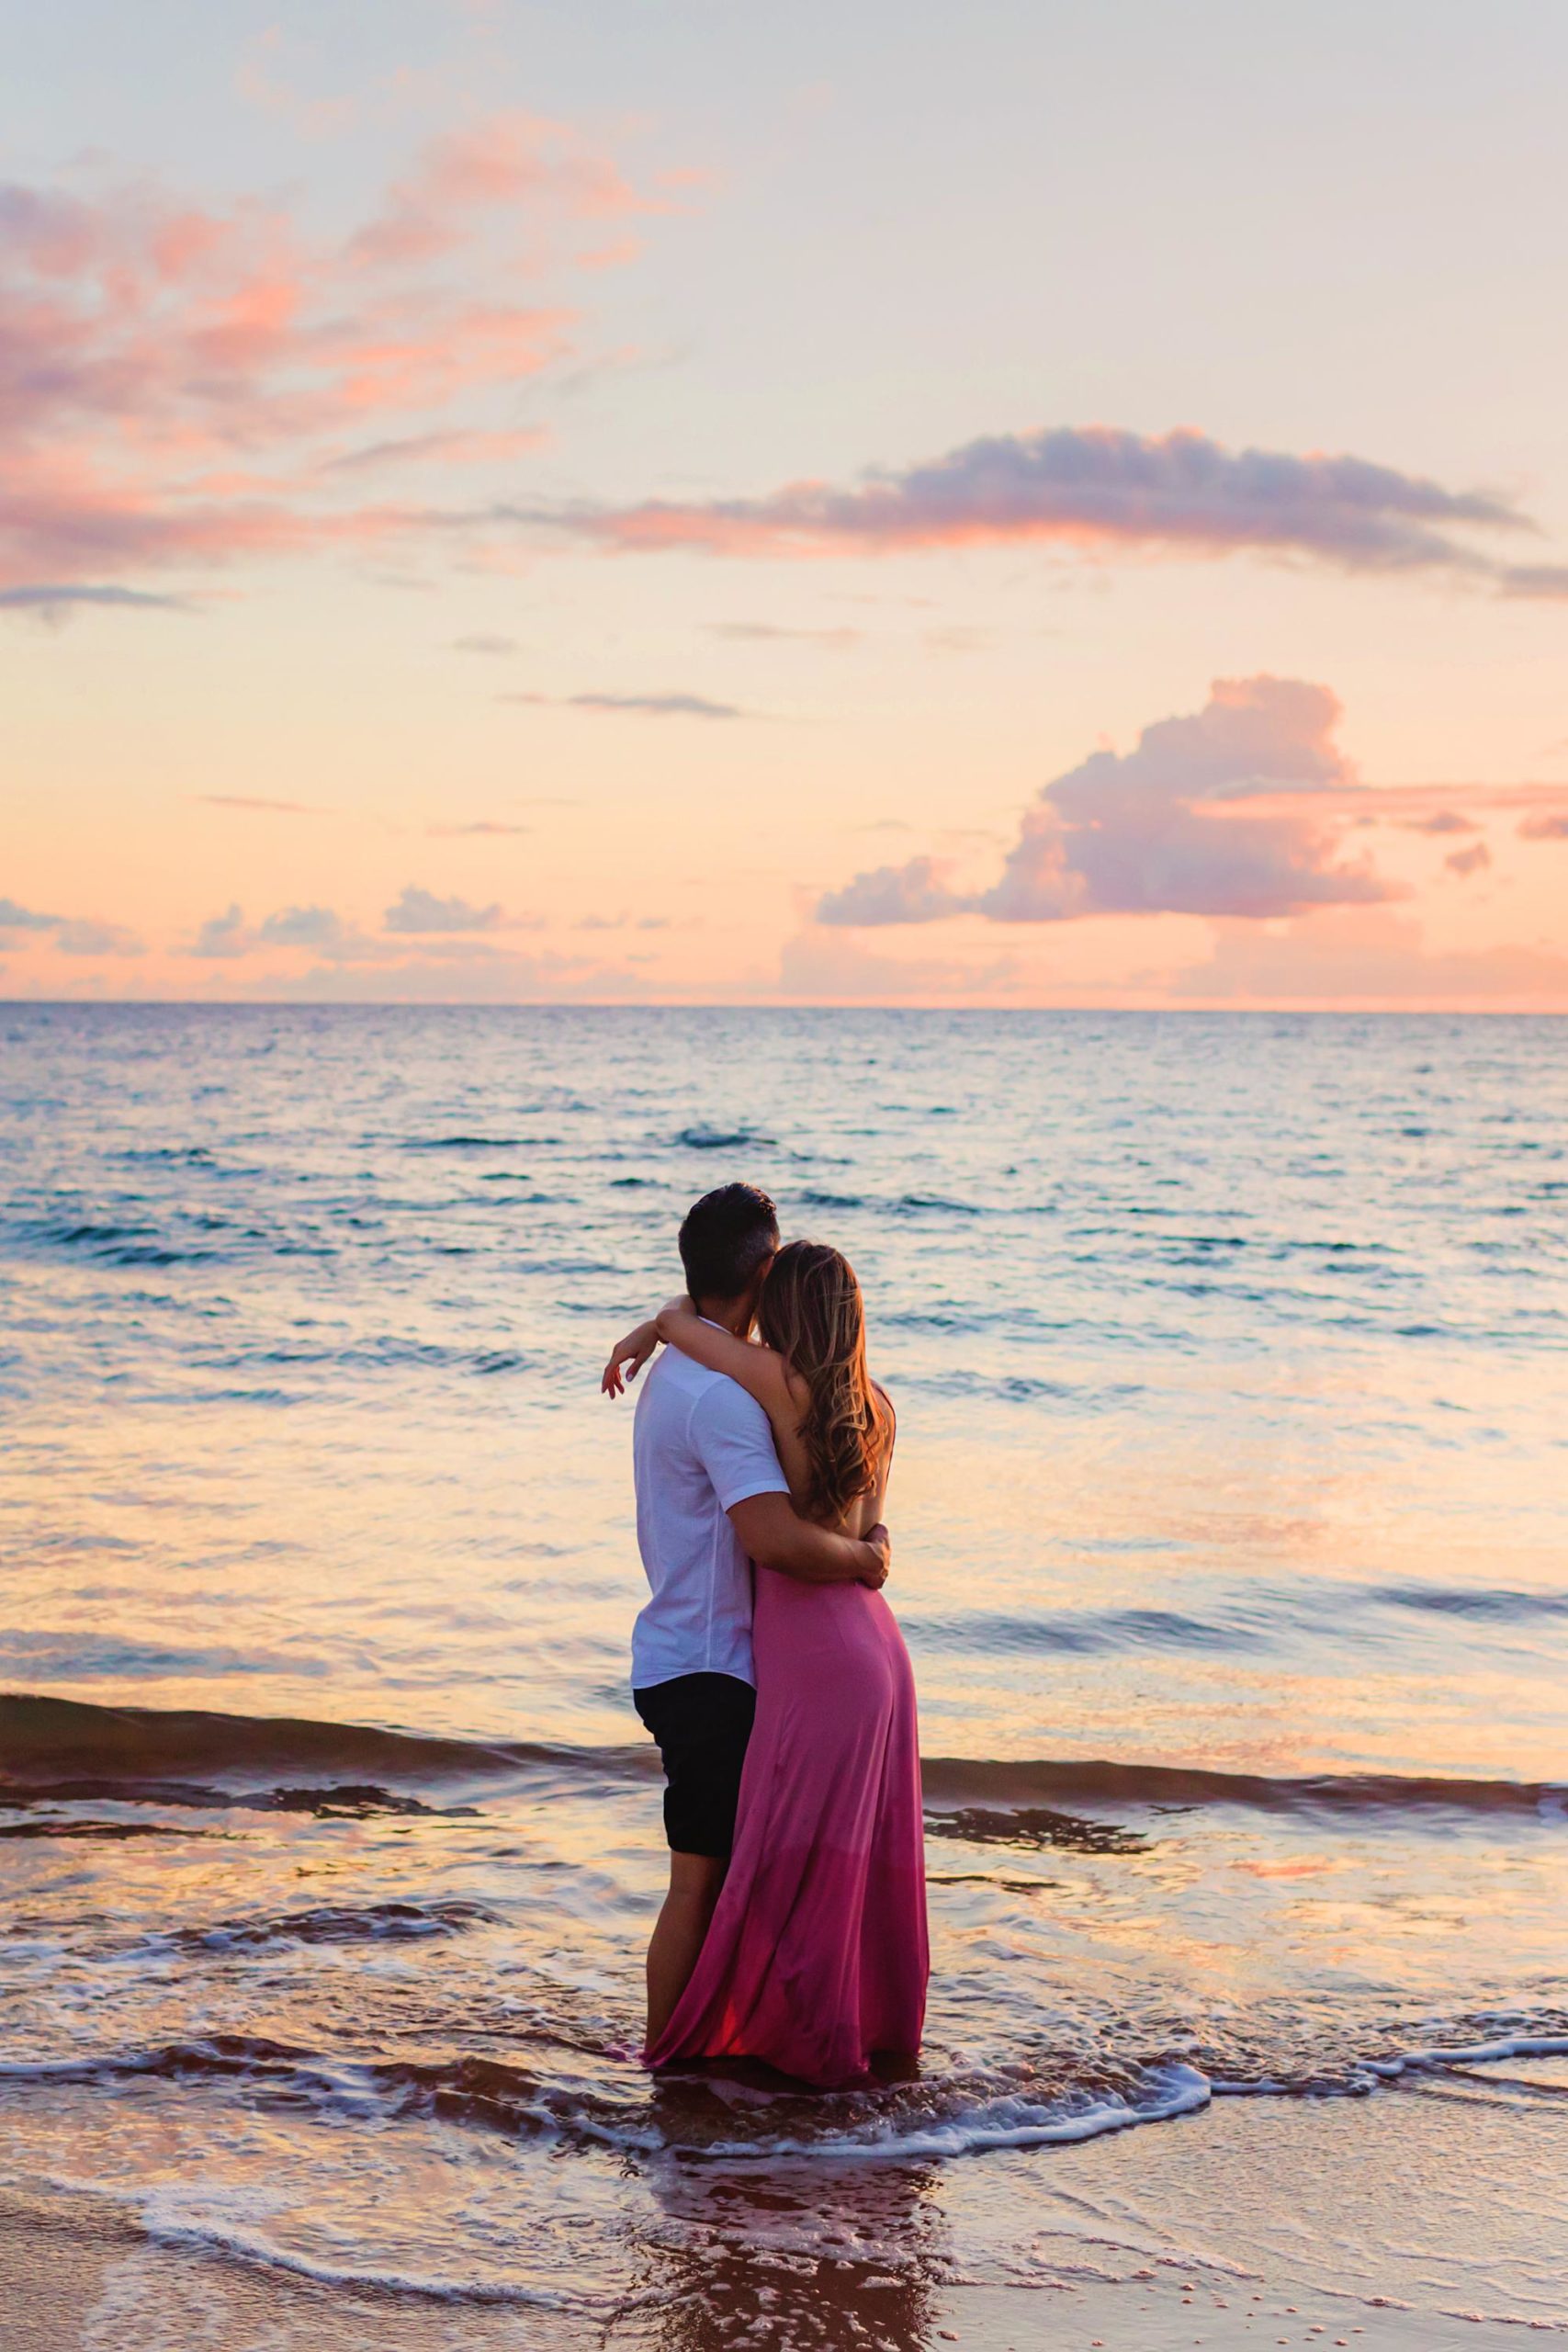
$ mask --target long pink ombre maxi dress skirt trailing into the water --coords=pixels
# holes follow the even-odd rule
[[[865,1585],[757,1569],[757,1722],[729,1877],[644,2063],[764,2058],[818,2089],[912,2056],[926,2013],[914,1672]]]

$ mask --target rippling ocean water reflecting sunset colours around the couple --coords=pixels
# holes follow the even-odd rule
[[[465,2345],[1199,2263],[1566,2324],[1566,1044],[0,1009],[0,2187]],[[900,1416],[929,2044],[832,2098],[630,2058],[597,1374],[729,1178],[851,1256]],[[136,2260],[101,2340],[207,2340]]]

